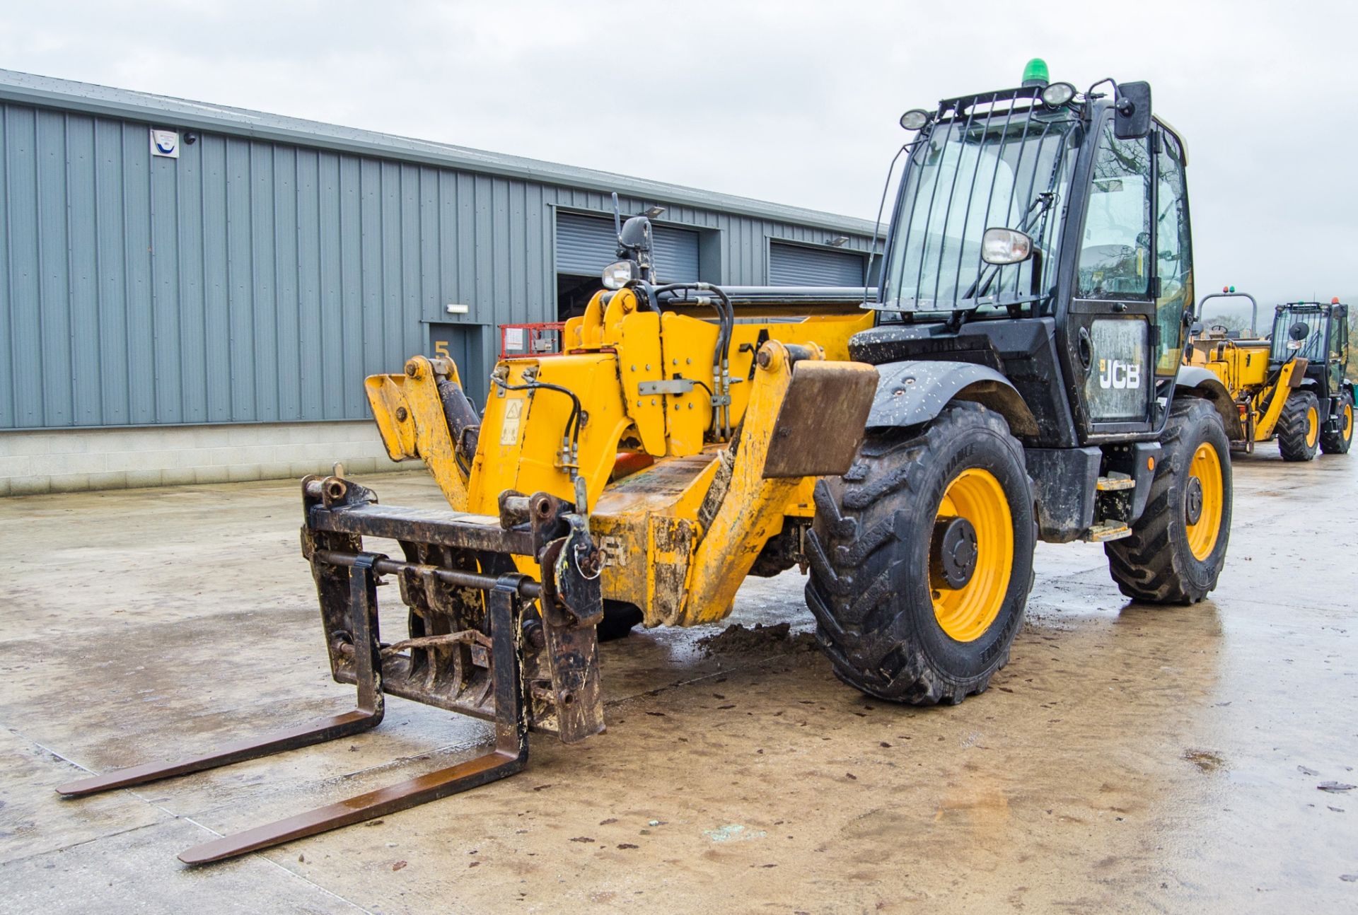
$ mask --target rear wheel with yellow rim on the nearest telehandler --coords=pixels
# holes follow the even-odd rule
[[[1217,586],[1230,539],[1230,443],[1221,414],[1175,398],[1160,463],[1131,536],[1104,543],[1122,593],[1152,604],[1195,604]]]

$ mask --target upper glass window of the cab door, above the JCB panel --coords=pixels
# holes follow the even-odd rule
[[[1112,119],[1099,134],[1085,232],[1081,299],[1145,299],[1150,291],[1150,147],[1119,140]]]

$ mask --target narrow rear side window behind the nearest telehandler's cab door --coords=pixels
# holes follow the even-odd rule
[[[1188,186],[1184,182],[1183,152],[1167,133],[1156,153],[1156,324],[1160,327],[1157,375],[1179,371],[1183,354],[1184,308],[1192,296],[1192,235],[1188,231]]]

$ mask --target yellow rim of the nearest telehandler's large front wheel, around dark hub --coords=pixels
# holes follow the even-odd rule
[[[976,559],[971,578],[960,588],[951,588],[938,574],[929,576],[934,616],[949,638],[972,642],[999,615],[1013,567],[1013,517],[995,475],[978,467],[957,474],[938,504],[937,520],[949,519],[971,523],[976,535]],[[934,529],[938,529],[937,525]]]

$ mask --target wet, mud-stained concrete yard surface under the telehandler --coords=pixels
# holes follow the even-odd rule
[[[367,481],[437,505],[424,475]],[[1236,463],[1222,584],[1127,604],[1040,546],[993,688],[951,709],[818,653],[603,649],[606,734],[527,772],[209,867],[175,853],[470,758],[488,726],[388,699],[375,732],[77,801],[53,786],[344,710],[293,483],[0,500],[0,910],[1358,911],[1358,455]],[[383,618],[401,631],[394,589]],[[809,629],[801,578],[733,620]]]

